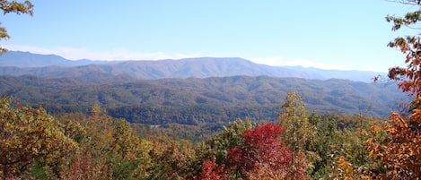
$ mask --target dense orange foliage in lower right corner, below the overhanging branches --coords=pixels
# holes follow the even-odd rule
[[[418,109],[417,109],[418,110]],[[379,159],[386,168],[384,176],[398,179],[412,179],[421,176],[421,122],[419,114],[408,119],[397,113],[390,115],[384,124],[387,137],[384,141],[367,140],[367,150],[373,159]]]

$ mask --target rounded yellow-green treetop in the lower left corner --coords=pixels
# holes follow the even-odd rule
[[[31,162],[43,157],[42,162],[63,156],[68,141],[59,124],[42,108],[13,108],[8,101],[0,100],[0,171],[13,174],[25,173]],[[7,115],[7,116],[4,116]],[[13,176],[13,175],[12,175]]]

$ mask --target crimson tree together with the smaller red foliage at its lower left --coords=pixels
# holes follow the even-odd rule
[[[195,179],[305,179],[303,157],[296,156],[282,141],[282,127],[263,124],[242,133],[243,144],[227,153],[226,164],[203,162],[203,171]],[[294,160],[295,158],[295,160]],[[299,163],[295,163],[299,162]],[[297,170],[298,169],[298,170]]]

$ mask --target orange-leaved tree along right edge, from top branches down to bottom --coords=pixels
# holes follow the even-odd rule
[[[419,1],[403,1],[419,6]],[[421,11],[407,13],[404,17],[388,16],[394,23],[392,30],[403,25],[414,27]],[[399,89],[414,97],[408,114],[392,112],[383,124],[387,134],[384,140],[372,137],[367,140],[367,150],[373,159],[380,160],[384,169],[378,176],[385,179],[417,179],[421,177],[421,40],[419,36],[399,37],[389,43],[405,57],[405,67],[393,67],[389,77],[399,81]],[[379,133],[379,131],[377,131]]]

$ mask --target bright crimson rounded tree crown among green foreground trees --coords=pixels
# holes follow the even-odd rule
[[[244,147],[233,147],[228,151],[232,168],[247,176],[262,173],[264,169],[276,172],[277,176],[286,176],[292,152],[284,142],[279,141],[281,133],[282,127],[275,124],[265,124],[245,131]]]

